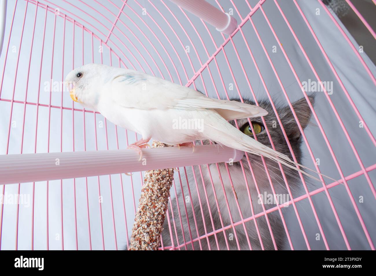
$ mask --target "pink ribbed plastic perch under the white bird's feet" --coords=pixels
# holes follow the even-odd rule
[[[244,152],[218,145],[0,155],[0,184],[78,178],[153,169],[236,162]]]

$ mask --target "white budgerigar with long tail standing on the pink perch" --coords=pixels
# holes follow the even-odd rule
[[[189,87],[158,77],[101,64],[76,68],[65,81],[70,86],[73,101],[142,135],[141,140],[129,145],[139,153],[140,160],[141,149],[152,137],[180,146],[194,146],[194,140],[208,139],[263,155],[305,173],[286,155],[259,143],[227,122],[267,115],[259,106],[208,98]]]

